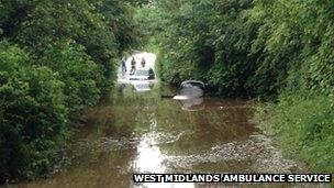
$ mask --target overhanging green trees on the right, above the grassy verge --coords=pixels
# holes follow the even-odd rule
[[[158,0],[136,18],[159,48],[163,80],[201,79],[221,95],[269,97],[297,82],[333,89],[327,3]]]

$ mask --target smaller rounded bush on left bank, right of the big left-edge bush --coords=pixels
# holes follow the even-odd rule
[[[49,47],[37,59],[37,64],[48,66],[59,74],[59,79],[65,84],[65,100],[71,114],[98,102],[103,85],[102,68],[85,53],[84,46],[68,44],[63,48]]]

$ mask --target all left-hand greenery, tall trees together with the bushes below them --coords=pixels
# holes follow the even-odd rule
[[[138,44],[145,1],[0,1],[0,183],[53,165],[79,112],[113,82],[116,56]]]

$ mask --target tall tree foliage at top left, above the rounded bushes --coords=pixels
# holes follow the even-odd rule
[[[101,67],[103,81],[98,87],[107,91],[114,79],[116,56],[138,45],[133,9],[124,1],[4,0],[0,27],[3,37],[26,47],[36,58],[45,49],[64,48],[69,42],[84,46]]]

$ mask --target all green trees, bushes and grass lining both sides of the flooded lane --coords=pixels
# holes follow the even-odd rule
[[[1,0],[0,184],[52,170],[55,151],[147,44],[163,81],[260,99],[259,126],[334,173],[332,1]],[[142,37],[143,36],[143,37]]]

